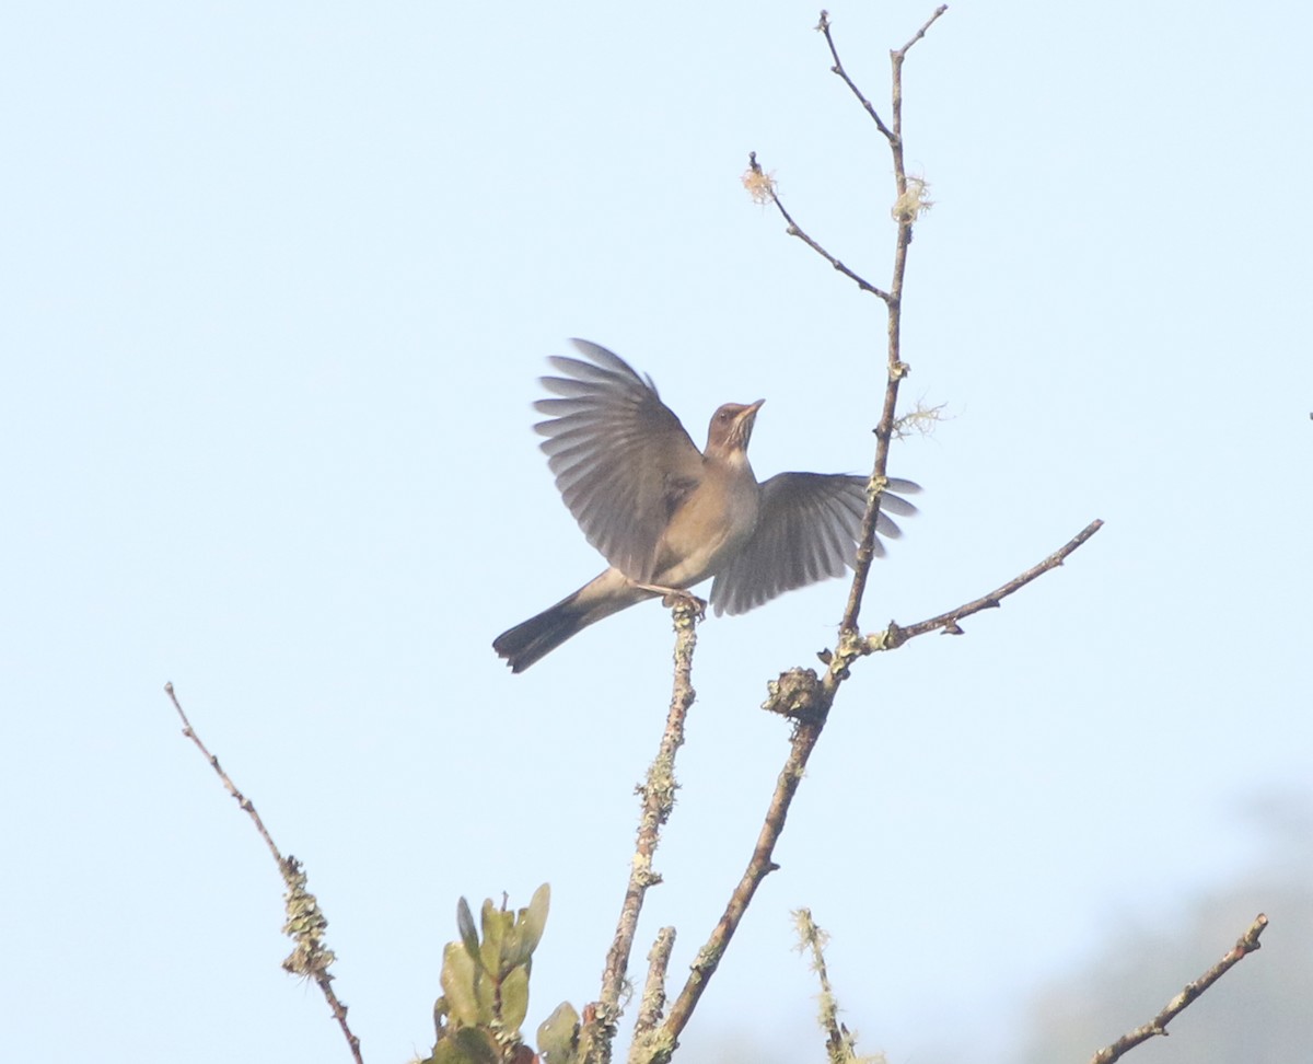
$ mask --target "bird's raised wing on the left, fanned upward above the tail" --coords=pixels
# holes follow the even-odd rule
[[[534,428],[548,437],[548,465],[588,543],[647,582],[671,514],[701,477],[702,454],[650,377],[604,347],[574,345],[588,361],[549,359],[562,376],[542,378],[557,398],[534,403],[549,415]]]

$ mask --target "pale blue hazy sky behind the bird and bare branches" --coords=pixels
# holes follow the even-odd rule
[[[881,104],[931,9],[834,8]],[[763,476],[869,466],[884,307],[739,185],[756,150],[886,282],[888,151],[815,18],[5,7],[0,1055],[345,1059],[278,969],[273,867],[165,680],[307,863],[369,1060],[427,1047],[460,895],[550,880],[530,1029],[596,994],[668,619],[633,610],[523,676],[492,655],[600,567],[529,403],[582,335],[699,440],[764,395]],[[962,3],[913,51],[907,160],[936,206],[903,394],[952,419],[895,451],[923,514],[864,617],[930,616],[1107,527],[965,637],[860,666],[684,1059],[822,1059],[797,905],[867,1050],[991,1061],[1100,942],[1233,898],[1200,948],[1154,954],[1171,976],[1117,1022],[1148,1019],[1274,904],[1255,870],[1308,859],[1304,830],[1272,858],[1268,825],[1306,808],[1313,754],[1310,34],[1278,3]],[[718,916],[784,757],[764,683],[814,662],[843,595],[702,628],[637,956],[674,922],[681,972]],[[1313,951],[1270,916],[1237,985]],[[1305,1002],[1308,971],[1285,980]],[[1253,1059],[1306,1048],[1302,1022]]]

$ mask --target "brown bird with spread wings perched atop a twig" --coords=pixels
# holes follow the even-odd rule
[[[777,473],[764,482],[747,460],[758,411],[725,403],[699,451],[649,376],[588,340],[580,359],[551,356],[549,398],[534,430],[561,497],[608,567],[574,594],[492,641],[512,673],[612,613],[651,598],[687,594],[713,578],[717,615],[743,613],[784,591],[839,577],[856,561],[867,477]],[[889,479],[877,531],[902,535],[889,512],[913,515]],[[877,556],[884,546],[874,541]]]

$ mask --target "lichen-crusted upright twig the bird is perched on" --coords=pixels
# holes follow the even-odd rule
[[[601,994],[593,1010],[595,1031],[591,1044],[596,1047],[596,1059],[601,1064],[611,1060],[611,1043],[621,1011],[620,994],[629,969],[629,954],[638,930],[643,896],[649,887],[662,881],[660,875],[653,871],[653,855],[660,842],[660,828],[675,808],[675,791],[679,788],[675,782],[675,754],[684,745],[684,719],[697,696],[692,682],[693,650],[697,646],[697,620],[702,608],[704,604],[692,595],[680,595],[671,610],[675,625],[675,680],[670,712],[666,715],[666,729],[662,732],[656,757],[647,768],[647,779],[637,788],[643,801],[634,858],[629,867],[629,885],[620,906],[616,937],[607,952]]]

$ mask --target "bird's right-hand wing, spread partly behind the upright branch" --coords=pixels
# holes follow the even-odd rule
[[[893,491],[914,494],[911,481],[890,479]],[[867,478],[843,473],[780,473],[762,485],[762,512],[747,545],[712,583],[717,613],[744,613],[776,595],[826,577],[843,575],[857,557]],[[886,490],[880,498],[877,532],[897,539],[902,531],[889,514],[913,515],[916,507]],[[876,556],[885,553],[877,536]]]

